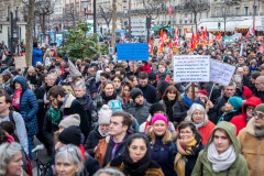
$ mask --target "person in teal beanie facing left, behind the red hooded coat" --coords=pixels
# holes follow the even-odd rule
[[[224,105],[223,108],[224,112],[219,118],[218,122],[220,121],[228,121],[230,122],[233,117],[240,116],[242,113],[242,99],[240,97],[230,97],[228,102]]]

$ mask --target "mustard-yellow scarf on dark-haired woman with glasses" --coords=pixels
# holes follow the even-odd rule
[[[177,139],[178,153],[174,161],[174,170],[177,176],[185,176],[185,157],[186,155],[194,155],[193,147],[197,145],[197,140],[193,136],[187,140]]]

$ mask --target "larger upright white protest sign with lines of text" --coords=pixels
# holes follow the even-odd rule
[[[198,82],[209,81],[209,56],[180,55],[174,56],[174,81]]]

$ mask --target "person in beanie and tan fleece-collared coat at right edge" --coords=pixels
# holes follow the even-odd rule
[[[264,103],[255,107],[252,118],[246,127],[239,132],[238,140],[241,145],[241,154],[244,156],[249,176],[262,176],[264,161]]]

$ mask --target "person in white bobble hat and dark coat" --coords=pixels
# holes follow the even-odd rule
[[[95,150],[99,143],[99,140],[109,135],[111,116],[112,110],[108,105],[103,105],[98,112],[98,125],[96,125],[95,129],[89,133],[85,143],[85,148],[91,156],[95,156]]]

